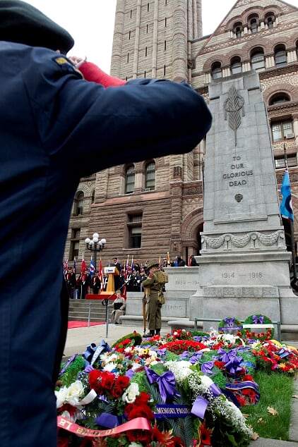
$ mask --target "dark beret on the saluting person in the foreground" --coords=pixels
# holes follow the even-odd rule
[[[0,40],[45,47],[61,53],[73,47],[71,35],[39,9],[20,0],[0,0]]]

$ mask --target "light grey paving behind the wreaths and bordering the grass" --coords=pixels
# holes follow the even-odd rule
[[[73,354],[82,354],[85,352],[85,348],[87,345],[90,345],[90,343],[95,343],[96,345],[98,345],[102,340],[105,340],[109,345],[112,345],[119,338],[132,333],[134,330],[143,335],[143,328],[124,326],[124,324],[100,324],[98,326],[68,329],[64,355],[67,358]],[[161,330],[162,335],[166,335],[167,333],[169,333],[168,328]],[[298,348],[297,341],[287,341],[287,344]],[[295,381],[294,396],[298,396],[298,378]],[[292,402],[290,441],[278,441],[275,439],[259,438],[256,441],[251,441],[250,447],[298,447],[297,398],[293,398]]]

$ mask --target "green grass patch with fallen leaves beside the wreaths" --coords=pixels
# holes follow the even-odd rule
[[[293,377],[257,370],[254,381],[260,390],[260,400],[254,405],[241,408],[246,415],[246,422],[261,438],[288,441],[294,393]]]

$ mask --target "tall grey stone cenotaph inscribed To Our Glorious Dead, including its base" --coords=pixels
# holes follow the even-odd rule
[[[190,319],[244,320],[263,314],[297,324],[290,287],[266,106],[253,72],[209,87],[213,127],[206,138],[204,226]],[[218,326],[203,322],[203,329]]]

